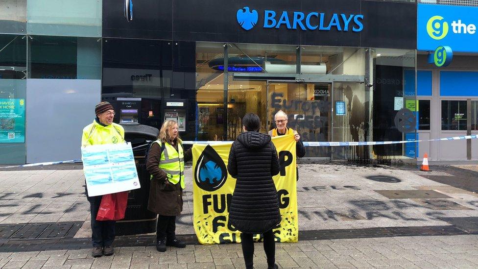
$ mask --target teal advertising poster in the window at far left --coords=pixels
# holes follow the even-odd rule
[[[0,98],[0,143],[25,143],[25,99]]]

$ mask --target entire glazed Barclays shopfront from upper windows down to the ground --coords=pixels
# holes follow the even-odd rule
[[[235,140],[248,112],[267,133],[283,110],[306,142],[405,140],[415,130],[399,130],[395,119],[415,99],[415,83],[403,79],[414,63],[415,51],[405,49],[197,42],[196,139]],[[412,149],[307,147],[305,158],[414,158]]]

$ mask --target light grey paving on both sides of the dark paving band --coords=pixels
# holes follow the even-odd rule
[[[470,178],[459,178],[453,169],[421,172],[407,167],[300,164],[300,231],[343,230],[360,235],[362,229],[371,228],[458,227],[464,235],[299,238],[299,243],[276,245],[277,262],[282,268],[478,268],[478,236],[474,234],[478,232],[478,195],[454,186],[454,181],[478,181],[476,168],[468,169],[475,174],[464,173]],[[191,167],[186,179],[191,179]],[[83,184],[82,170],[68,167],[0,169],[0,226],[80,221],[83,224],[74,237],[90,237]],[[191,180],[187,180],[178,234],[194,234],[191,190]],[[98,259],[91,258],[89,251],[0,252],[0,268],[243,267],[239,244],[188,245],[168,248],[165,253],[151,246],[117,247],[114,256]],[[256,256],[256,268],[266,268],[261,244],[256,244]]]

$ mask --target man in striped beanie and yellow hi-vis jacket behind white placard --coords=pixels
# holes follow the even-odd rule
[[[83,128],[81,146],[87,147],[102,144],[124,143],[124,129],[113,122],[115,110],[109,102],[100,102],[95,107],[96,118],[93,123]],[[86,190],[86,187],[85,187]],[[88,196],[91,211],[91,241],[93,243],[92,256],[101,257],[113,255],[113,241],[115,240],[115,220],[96,220],[101,198],[103,196]]]

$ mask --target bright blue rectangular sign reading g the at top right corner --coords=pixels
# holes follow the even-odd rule
[[[417,49],[478,52],[478,7],[418,4]]]

